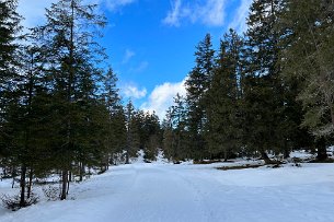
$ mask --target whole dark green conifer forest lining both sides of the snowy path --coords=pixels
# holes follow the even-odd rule
[[[88,2],[58,0],[27,28],[18,0],[0,0],[0,176],[18,188],[1,196],[7,208],[37,203],[34,189],[50,177],[57,189],[46,192],[61,205],[92,172],[133,165],[140,153],[146,164],[163,155],[178,166],[242,159],[280,167],[298,151],[333,162],[332,0],[253,0],[243,33],[228,30],[218,47],[208,33],[188,51],[186,94],[164,118],[122,97],[100,44],[112,21]]]

